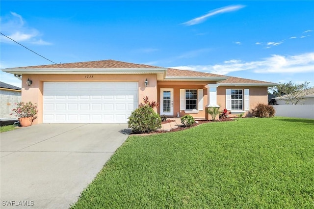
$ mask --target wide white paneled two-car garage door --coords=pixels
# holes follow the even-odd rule
[[[137,82],[44,82],[44,123],[127,123]]]

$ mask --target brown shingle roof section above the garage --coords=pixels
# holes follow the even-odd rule
[[[116,60],[101,60],[101,61],[89,61],[89,62],[73,62],[64,64],[53,65],[37,65],[18,67],[14,69],[38,69],[38,68],[158,68],[152,65],[134,64],[129,62],[121,62]]]

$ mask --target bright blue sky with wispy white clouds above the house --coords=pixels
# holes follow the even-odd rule
[[[1,0],[0,14],[3,34],[56,63],[114,59],[314,86],[314,1]],[[2,35],[0,52],[1,69],[53,64]]]

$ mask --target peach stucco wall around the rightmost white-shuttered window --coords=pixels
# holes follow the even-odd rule
[[[267,87],[264,86],[218,86],[217,88],[217,104],[220,109],[226,108],[226,89],[250,89],[249,101],[251,110],[257,104],[268,104]]]

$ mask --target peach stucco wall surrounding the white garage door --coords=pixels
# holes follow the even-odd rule
[[[87,75],[87,74],[86,74]],[[143,97],[150,96],[150,101],[157,101],[157,76],[156,74],[144,74],[144,75],[95,75],[88,74],[92,78],[85,78],[85,74],[82,75],[23,75],[22,81],[22,101],[32,102],[38,104],[37,119],[33,124],[42,123],[43,121],[43,86],[45,81],[132,81],[138,82],[138,101],[143,102]],[[27,86],[26,80],[29,78],[33,81],[31,86]],[[145,87],[144,81],[148,80],[148,86]],[[113,89],[114,90],[114,89]]]

